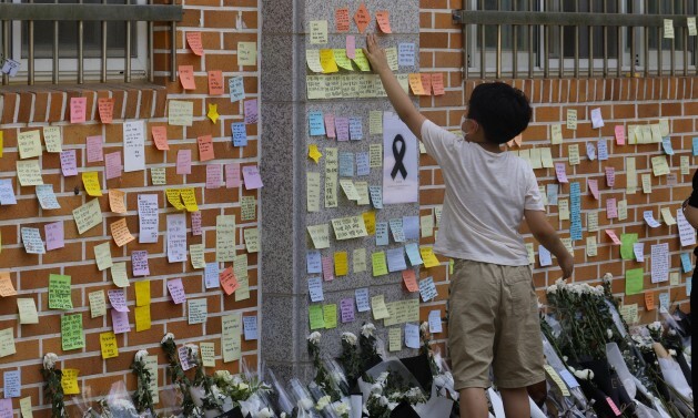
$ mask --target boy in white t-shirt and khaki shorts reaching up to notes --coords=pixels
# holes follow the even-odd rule
[[[462,418],[486,418],[489,366],[507,418],[529,418],[526,387],[545,379],[538,305],[523,218],[556,257],[565,278],[574,258],[547,222],[533,170],[500,145],[526,129],[530,106],[504,83],[473,90],[462,122],[465,141],[422,115],[370,34],[364,53],[399,119],[442,167],[446,197],[434,251],[455,261],[448,348]]]

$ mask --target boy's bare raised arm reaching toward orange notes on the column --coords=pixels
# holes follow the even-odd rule
[[[393,74],[393,71],[391,71],[387,64],[385,50],[378,45],[377,38],[374,33],[370,33],[366,37],[364,54],[371,62],[373,71],[381,77],[383,89],[385,89],[387,98],[391,104],[393,104],[393,108],[395,108],[395,112],[397,112],[399,119],[405,122],[417,139],[422,140],[422,123],[424,123],[426,118],[419,113],[407,93],[405,93],[399,85],[395,74]]]

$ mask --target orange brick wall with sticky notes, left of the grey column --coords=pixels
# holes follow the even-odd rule
[[[79,383],[88,401],[97,400],[109,394],[111,385],[117,380],[125,383],[128,390],[135,389],[134,376],[130,373],[133,356],[139,349],[149,349],[151,355],[159,356],[159,385],[161,399],[163,390],[170,388],[166,381],[166,359],[160,348],[162,336],[171,332],[178,344],[215,343],[215,369],[240,370],[240,361],[224,364],[221,354],[221,316],[241,312],[243,316],[257,316],[257,254],[247,254],[243,241],[243,231],[259,227],[259,220],[241,221],[241,200],[252,196],[259,200],[256,191],[246,191],[244,186],[225,188],[205,188],[206,165],[240,163],[241,166],[259,164],[259,125],[247,124],[247,145],[233,146],[231,141],[231,123],[243,122],[242,102],[231,103],[227,79],[234,75],[244,78],[245,99],[259,98],[259,72],[256,65],[241,67],[237,64],[237,42],[259,43],[259,3],[254,0],[194,0],[184,4],[184,20],[178,24],[176,63],[193,65],[196,90],[184,92],[180,82],[170,82],[169,32],[159,31],[154,37],[154,65],[158,85],[141,84],[83,84],[51,86],[12,86],[0,91],[0,130],[4,136],[3,154],[0,157],[0,179],[10,179],[17,194],[18,204],[0,206],[0,236],[2,252],[0,271],[11,272],[11,282],[17,288],[17,297],[34,298],[40,316],[38,325],[19,325],[14,296],[4,297],[0,302],[0,329],[12,328],[17,345],[17,354],[0,358],[0,376],[7,370],[21,370],[21,397],[31,396],[34,417],[49,417],[50,404],[43,398],[43,380],[40,374],[43,354],[53,351],[59,355],[60,368],[80,369]],[[204,52],[203,57],[192,53],[185,43],[188,31],[201,31]],[[208,70],[222,70],[225,93],[212,96],[208,91]],[[70,124],[69,103],[73,96],[88,98],[88,121],[83,124]],[[114,121],[102,124],[97,110],[97,99],[111,96],[115,101]],[[168,125],[168,101],[185,100],[194,103],[192,126]],[[218,104],[220,119],[216,124],[206,118],[209,104]],[[103,163],[87,163],[85,137],[102,135],[104,154],[122,151],[122,123],[124,120],[140,119],[145,121],[145,164],[144,172],[123,173],[121,177],[104,180]],[[58,154],[43,152],[40,157],[42,175],[45,184],[52,184],[61,205],[60,210],[42,211],[34,194],[34,187],[22,187],[16,177],[16,161],[19,160],[17,136],[19,132],[41,129],[45,125],[61,126],[63,150],[75,150],[79,172],[98,171],[102,182],[100,201],[103,222],[82,235],[78,234],[72,217],[72,210],[90,201],[83,190],[81,177],[63,177]],[[164,125],[168,130],[169,151],[155,149],[151,128]],[[196,137],[212,135],[215,160],[199,162]],[[192,172],[179,175],[175,172],[176,153],[191,150]],[[150,169],[165,167],[166,185],[153,186]],[[225,296],[222,289],[206,290],[203,283],[203,271],[193,269],[189,262],[168,263],[166,258],[166,214],[178,213],[168,204],[164,190],[166,187],[194,187],[196,202],[202,214],[203,233],[191,234],[191,216],[186,215],[188,245],[205,244],[205,261],[215,261],[215,216],[235,215],[236,217],[236,254],[247,254],[247,274],[250,298],[235,302],[235,295]],[[119,248],[111,235],[109,225],[121,215],[110,212],[108,190],[118,188],[127,192],[125,215],[129,230],[138,237],[139,217],[136,198],[139,193],[158,194],[160,213],[160,237],[156,244],[139,244],[138,238]],[[256,213],[256,212],[255,212]],[[43,234],[43,225],[62,222],[65,231],[65,247],[47,252],[44,255],[31,255],[24,252],[20,239],[20,227],[39,227]],[[44,237],[45,238],[45,237]],[[119,357],[103,360],[100,354],[99,334],[112,329],[110,315],[92,319],[88,294],[100,289],[117,288],[112,284],[109,269],[99,272],[94,262],[93,247],[110,242],[114,262],[125,261],[129,277],[131,274],[131,253],[138,249],[149,252],[149,277],[131,277],[131,286],[127,288],[127,299],[131,307],[129,319],[132,330],[117,336]],[[233,263],[220,263],[220,267],[232,266]],[[74,309],[62,312],[48,308],[49,274],[65,274],[72,277],[72,302]],[[170,299],[166,281],[181,277],[189,299],[206,298],[209,318],[205,324],[189,325],[186,304],[175,305]],[[135,302],[134,282],[150,281],[151,284],[151,318],[152,327],[145,332],[135,332],[133,307]],[[108,309],[109,310],[109,309]],[[81,313],[85,334],[85,348],[63,351],[61,349],[60,318],[62,314]],[[256,367],[259,346],[255,340],[242,340],[243,360]],[[210,370],[211,371],[211,370]],[[193,377],[193,376],[192,376]],[[2,390],[0,390],[2,391]],[[80,416],[77,401],[67,397],[70,416]],[[19,417],[19,398],[12,399],[16,416]],[[159,408],[165,408],[160,404]]]

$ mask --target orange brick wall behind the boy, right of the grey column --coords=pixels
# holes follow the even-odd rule
[[[446,94],[435,98],[421,98],[422,112],[441,126],[451,130],[459,129],[458,123],[467,103],[469,92],[482,80],[462,79],[463,55],[461,52],[461,27],[451,21],[453,9],[462,7],[461,0],[422,0],[421,1],[421,71],[444,73]],[[644,211],[653,211],[655,218],[660,218],[659,210],[670,207],[674,215],[681,202],[691,191],[691,176],[696,169],[696,160],[691,153],[692,137],[698,134],[696,114],[698,113],[698,78],[667,77],[653,79],[579,79],[579,80],[504,80],[522,89],[530,99],[534,108],[534,119],[524,132],[520,150],[552,146],[554,162],[564,162],[570,182],[579,182],[581,186],[581,226],[583,239],[574,243],[575,249],[575,281],[587,282],[591,285],[599,283],[605,273],[611,273],[613,292],[621,298],[623,304],[638,304],[640,307],[639,322],[649,323],[657,319],[657,310],[647,312],[644,295],[625,295],[625,272],[643,267],[645,271],[644,287],[655,293],[655,299],[660,293],[668,293],[672,306],[680,306],[687,312],[688,296],[686,283],[690,281],[690,273],[682,273],[680,254],[689,253],[692,248],[680,247],[678,228],[662,223],[657,228],[649,228],[644,218]],[[591,109],[600,108],[606,126],[600,130],[591,129]],[[565,128],[567,109],[576,109],[579,120],[576,131]],[[671,174],[677,176],[676,185],[667,184],[666,176],[651,179],[651,194],[644,194],[641,190],[641,174],[651,174],[650,159],[664,155],[660,144],[616,145],[614,140],[615,125],[657,123],[659,118],[669,120],[671,144],[675,155],[667,155]],[[550,125],[563,124],[564,143],[550,145]],[[609,160],[599,162],[586,159],[586,143],[599,139],[608,140]],[[568,164],[568,149],[577,144],[581,163]],[[518,150],[518,147],[514,147]],[[638,191],[626,193],[625,159],[633,156],[637,165]],[[690,173],[682,175],[679,170],[680,157],[690,160]],[[613,166],[616,171],[615,187],[607,187],[605,167]],[[538,184],[557,184],[554,169],[535,170]],[[434,214],[435,207],[443,203],[444,180],[436,162],[428,155],[421,159],[421,215]],[[595,200],[587,188],[587,179],[598,180],[599,200]],[[569,198],[569,185],[559,190],[560,198]],[[606,218],[606,201],[616,198],[627,200],[628,218],[625,221]],[[599,232],[589,233],[586,225],[586,213],[598,211]],[[569,221],[559,221],[557,206],[548,206],[549,222],[560,233],[562,237],[569,237]],[[619,247],[613,245],[604,228],[614,228],[618,234],[637,233],[639,241],[645,243],[645,263],[621,261]],[[535,239],[526,231],[522,231],[526,243]],[[596,236],[598,255],[586,256],[586,237]],[[422,238],[422,244],[433,244],[434,237]],[[670,254],[670,272],[680,272],[679,285],[671,286],[669,282],[653,284],[649,277],[649,249],[651,245],[668,243]],[[534,284],[543,302],[545,287],[560,277],[559,268],[539,266],[536,248],[536,264],[534,265]],[[443,259],[443,258],[442,258]],[[691,255],[691,263],[695,261]],[[554,262],[555,263],[555,262]],[[421,317],[426,320],[431,310],[441,310],[442,318],[447,316],[446,299],[448,298],[448,263],[443,259],[438,267],[423,269],[422,277],[433,276],[438,289],[436,300],[421,305]],[[658,303],[658,302],[657,302]],[[445,325],[445,323],[444,323]],[[434,336],[435,341],[445,353],[447,329]]]

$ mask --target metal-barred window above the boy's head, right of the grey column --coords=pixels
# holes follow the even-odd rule
[[[698,0],[464,0],[464,8],[453,19],[463,26],[466,79],[697,73],[689,19]]]

